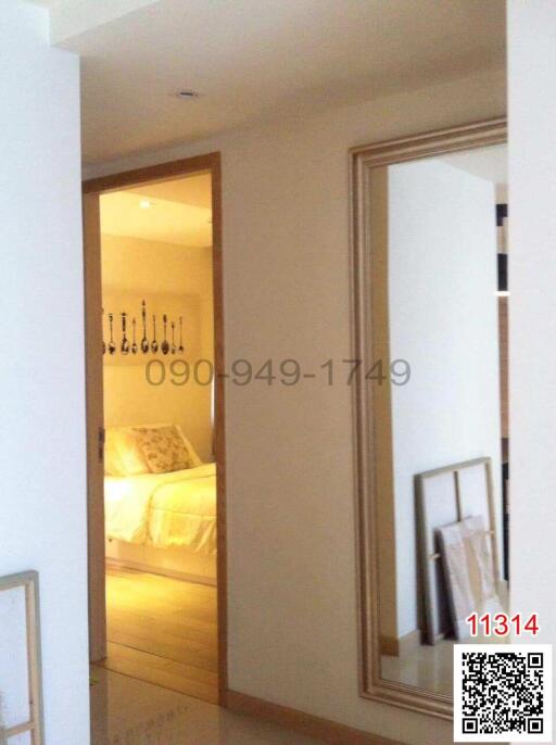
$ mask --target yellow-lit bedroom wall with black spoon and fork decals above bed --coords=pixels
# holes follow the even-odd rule
[[[104,420],[106,426],[146,425],[172,421],[181,425],[203,460],[213,459],[211,402],[212,387],[198,384],[191,375],[184,386],[181,367],[172,375],[170,364],[185,358],[214,359],[214,321],[212,294],[212,249],[185,248],[172,243],[146,241],[137,238],[102,236],[102,285],[105,310],[104,339],[108,341],[106,314],[114,313],[115,339],[121,339],[119,313],[137,316],[137,341],[142,337],[141,299],[148,310],[156,312],[156,339],[163,339],[161,314],[184,316],[184,355],[164,357],[153,355],[115,354],[104,356]],[[152,338],[149,316],[148,337]],[[131,338],[130,318],[128,338]],[[168,339],[170,330],[168,328]],[[176,343],[178,333],[176,329]],[[166,378],[161,386],[149,384],[146,375],[148,361],[164,363]],[[201,374],[205,375],[205,368]],[[160,367],[151,378],[159,380]],[[201,375],[200,375],[201,378]],[[204,378],[202,378],[204,380]]]

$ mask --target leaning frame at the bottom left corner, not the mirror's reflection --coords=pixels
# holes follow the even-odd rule
[[[39,578],[0,578],[0,744],[43,745]]]

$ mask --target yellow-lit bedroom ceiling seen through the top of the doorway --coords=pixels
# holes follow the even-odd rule
[[[101,231],[191,248],[212,245],[211,176],[101,194]]]

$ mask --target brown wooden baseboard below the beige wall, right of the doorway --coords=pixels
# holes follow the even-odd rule
[[[355,730],[329,719],[271,704],[237,691],[227,691],[223,704],[230,711],[281,724],[288,730],[315,737],[329,745],[403,745],[394,740]]]

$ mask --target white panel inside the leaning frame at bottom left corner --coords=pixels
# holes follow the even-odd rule
[[[25,588],[17,586],[0,591],[0,727],[29,718]]]

